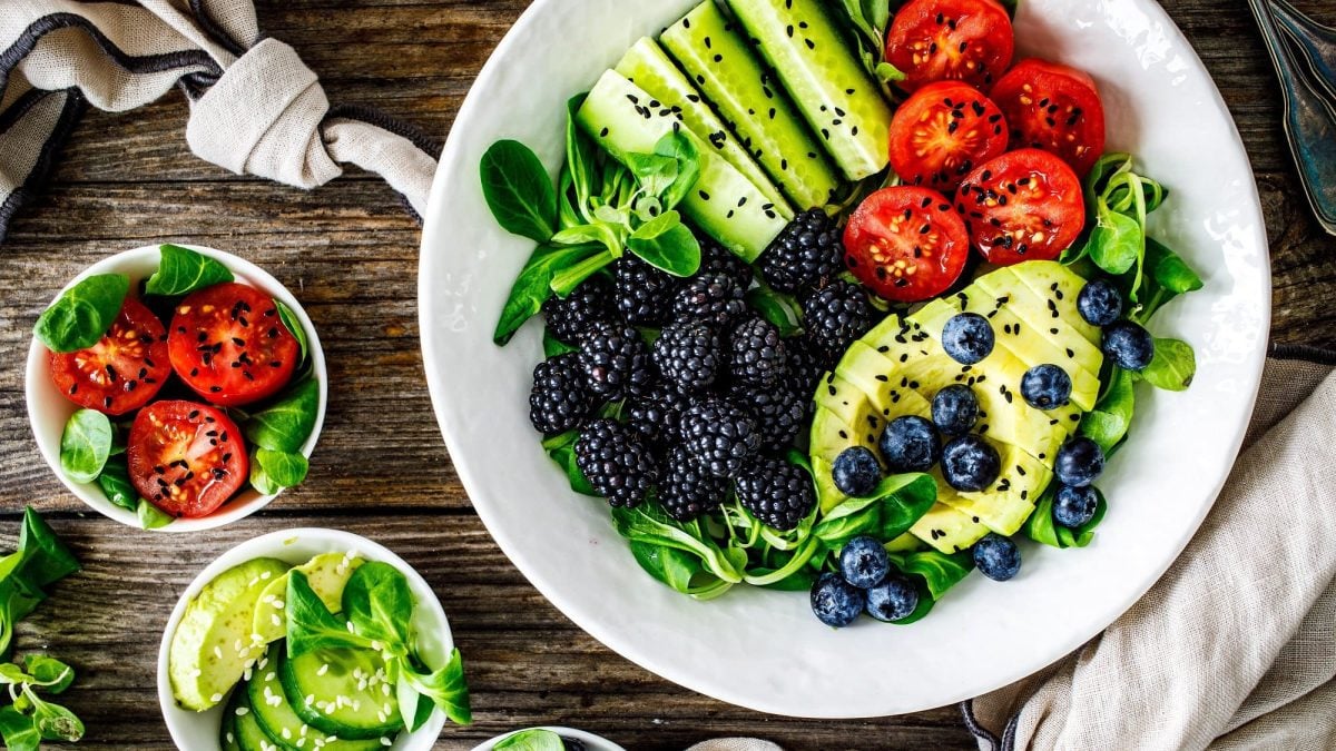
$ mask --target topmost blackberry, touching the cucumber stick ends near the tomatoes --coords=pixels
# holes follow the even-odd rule
[[[756,263],[770,286],[792,294],[815,289],[843,271],[842,257],[835,220],[820,208],[812,208],[795,216]]]

